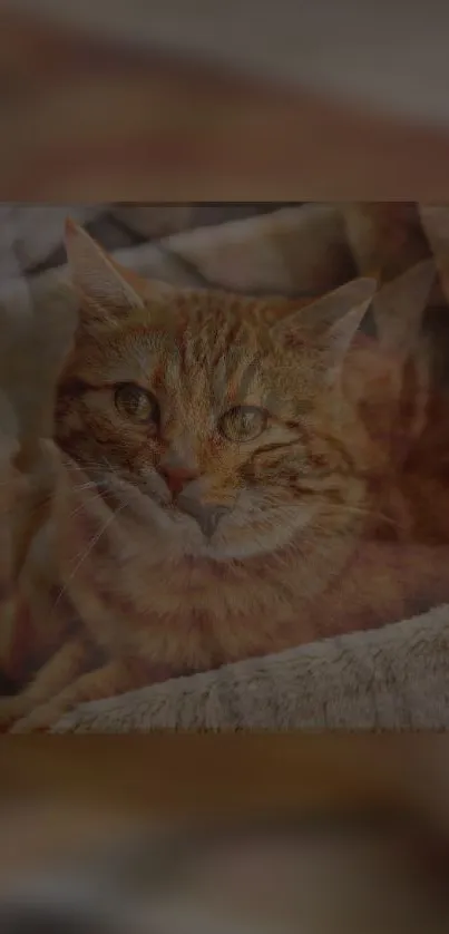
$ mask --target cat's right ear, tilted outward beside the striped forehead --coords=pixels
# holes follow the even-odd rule
[[[321,350],[325,369],[341,368],[351,341],[377,290],[375,279],[353,279],[272,328],[284,346],[313,346]]]

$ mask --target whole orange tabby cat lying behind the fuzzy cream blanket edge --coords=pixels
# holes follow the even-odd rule
[[[355,392],[343,371],[375,282],[304,308],[141,282],[74,224],[67,249],[80,323],[20,580],[35,677],[3,728],[412,610],[435,568],[418,580],[373,537],[401,515],[397,410],[372,430],[391,387],[362,418],[369,354]]]

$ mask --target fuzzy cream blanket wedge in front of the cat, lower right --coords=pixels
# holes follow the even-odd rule
[[[52,732],[447,730],[449,605],[79,707]]]

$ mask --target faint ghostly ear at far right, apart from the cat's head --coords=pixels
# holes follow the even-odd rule
[[[417,348],[436,273],[433,260],[423,260],[382,285],[373,299],[380,350],[399,364]]]

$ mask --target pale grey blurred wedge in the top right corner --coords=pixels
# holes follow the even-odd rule
[[[448,124],[449,7],[378,0],[3,0],[97,38]],[[256,28],[255,28],[256,25]]]

